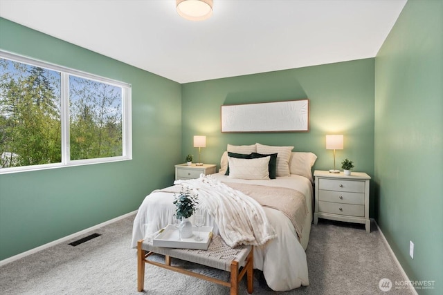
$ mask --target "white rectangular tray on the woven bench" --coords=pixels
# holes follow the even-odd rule
[[[210,239],[213,237],[213,227],[200,227],[200,237],[203,240],[195,240],[199,234],[198,231],[198,227],[192,227],[192,236],[180,240],[179,229],[174,227],[174,225],[168,225],[161,229],[159,234],[152,240],[152,245],[154,247],[207,250]]]

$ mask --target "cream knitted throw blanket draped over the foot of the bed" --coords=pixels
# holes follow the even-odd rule
[[[199,207],[206,209],[215,218],[221,238],[230,247],[264,245],[277,237],[257,201],[210,175],[201,175],[192,180],[176,180],[174,184],[189,187],[198,195]]]

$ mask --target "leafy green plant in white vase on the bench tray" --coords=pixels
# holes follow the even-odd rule
[[[175,218],[181,218],[181,238],[192,236],[192,223],[188,220],[197,209],[198,198],[189,187],[181,188],[178,195],[174,194]]]

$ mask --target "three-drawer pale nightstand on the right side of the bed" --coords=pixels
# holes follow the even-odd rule
[[[316,184],[316,207],[314,225],[318,218],[362,223],[371,231],[369,219],[370,176],[363,172],[351,175],[314,171]]]

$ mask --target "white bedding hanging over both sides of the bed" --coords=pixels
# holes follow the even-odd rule
[[[243,182],[296,189],[305,195],[308,214],[303,225],[300,242],[296,230],[287,216],[276,209],[264,208],[278,237],[266,243],[264,247],[254,247],[254,268],[263,271],[266,283],[274,291],[287,291],[300,287],[300,285],[309,285],[305,249],[309,241],[312,221],[311,182],[300,175],[278,177],[275,180],[240,180],[228,178],[222,173],[212,176],[224,182]],[[168,191],[179,192],[179,187],[170,187]],[[172,216],[175,213],[173,199],[173,193],[153,191],[143,200],[134,220],[132,247],[136,247],[138,240],[150,237],[159,229],[172,223]],[[206,225],[213,226],[214,233],[218,233],[217,225],[210,216],[206,216]]]

